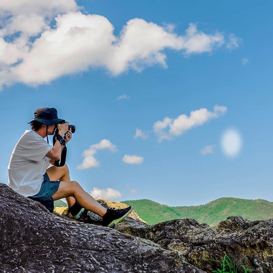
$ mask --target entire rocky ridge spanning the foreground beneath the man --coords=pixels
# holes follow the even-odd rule
[[[96,198],[105,207],[126,204]],[[0,183],[0,272],[211,272],[225,254],[236,265],[273,272],[273,219],[229,216],[215,227],[192,218],[147,225],[131,212],[115,229],[92,212],[50,213]],[[240,272],[240,271],[239,271]],[[241,271],[242,272],[242,271]]]

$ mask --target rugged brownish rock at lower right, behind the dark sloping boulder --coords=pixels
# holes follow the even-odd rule
[[[120,202],[96,199],[105,207],[127,206]],[[222,263],[227,254],[232,261],[234,257],[235,265],[242,264],[246,269],[261,273],[273,272],[273,219],[249,221],[241,216],[229,216],[217,226],[210,227],[192,218],[147,225],[135,215],[130,213],[115,229],[148,239],[166,250],[178,251],[189,263],[203,271],[211,272],[220,268],[220,264],[202,259]],[[82,221],[99,220],[99,216],[96,216],[83,218]]]

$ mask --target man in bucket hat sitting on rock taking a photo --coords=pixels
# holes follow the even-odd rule
[[[34,111],[34,120],[28,122],[32,128],[20,137],[8,164],[8,185],[17,193],[43,204],[50,212],[54,209],[54,200],[66,198],[69,212],[78,219],[84,209],[90,210],[103,219],[103,225],[114,228],[132,210],[105,208],[88,194],[76,181],[71,181],[69,169],[54,165],[61,159],[63,147],[72,139],[69,122],[58,118],[55,108],[42,107]],[[52,147],[48,135],[54,135],[56,142]],[[46,136],[47,142],[44,140]],[[54,165],[48,168],[49,164]],[[48,169],[47,169],[48,168]]]

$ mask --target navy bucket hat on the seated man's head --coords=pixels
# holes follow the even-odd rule
[[[57,109],[51,107],[37,108],[34,111],[34,120],[40,121],[41,123],[49,126],[55,125],[60,121],[65,121],[61,118],[58,118]],[[32,121],[29,121],[28,124]]]

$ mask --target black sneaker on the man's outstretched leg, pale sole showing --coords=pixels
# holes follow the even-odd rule
[[[126,207],[125,209],[115,209],[111,207],[107,208],[107,212],[102,216],[103,226],[111,227],[112,229],[115,225],[122,221],[132,210],[134,206]]]

